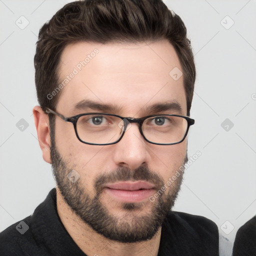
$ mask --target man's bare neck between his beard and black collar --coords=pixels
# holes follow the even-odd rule
[[[146,241],[122,243],[107,239],[95,232],[87,223],[81,220],[64,201],[59,189],[56,187],[57,212],[65,229],[74,242],[87,256],[122,255],[122,256],[157,256],[161,228],[153,238]]]

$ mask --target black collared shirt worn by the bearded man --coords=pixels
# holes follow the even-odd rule
[[[0,255],[86,256],[58,216],[55,188],[50,190],[33,214],[0,233]],[[162,224],[158,251],[158,256],[167,255],[218,255],[216,224],[202,216],[170,211]]]

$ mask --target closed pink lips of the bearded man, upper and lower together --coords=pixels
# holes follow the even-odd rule
[[[122,202],[139,202],[148,199],[155,190],[152,183],[145,181],[109,183],[104,189],[111,197]]]

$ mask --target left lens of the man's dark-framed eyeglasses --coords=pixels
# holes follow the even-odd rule
[[[79,138],[87,143],[108,144],[118,140],[124,122],[121,118],[105,114],[82,115],[76,122]]]

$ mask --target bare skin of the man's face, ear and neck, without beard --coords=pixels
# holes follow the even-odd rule
[[[82,99],[90,99],[99,103],[117,105],[119,109],[114,114],[121,116],[149,115],[150,113],[144,110],[145,107],[165,101],[178,102],[182,109],[181,112],[169,110],[161,113],[186,115],[183,77],[175,81],[169,75],[174,67],[181,70],[180,62],[173,46],[167,40],[136,44],[91,42],[69,44],[61,54],[59,81],[61,82],[72,72],[77,63],[95,48],[99,53],[90,59],[61,90],[55,109],[57,112],[64,116],[72,116],[94,111],[92,109],[72,111],[75,103]],[[33,108],[33,114],[43,159],[52,163],[48,115],[39,106]],[[184,163],[187,139],[175,145],[150,144],[139,133],[138,124],[132,123],[118,143],[105,146],[88,145],[77,139],[72,123],[56,117],[55,146],[68,168],[75,169],[79,173],[79,184],[86,188],[92,197],[95,196],[93,186],[95,178],[103,173],[110,174],[121,167],[132,171],[141,165],[146,165],[164,183],[167,182]],[[177,186],[179,185],[177,183]],[[172,186],[168,187],[164,194],[173,193],[171,189]],[[59,217],[72,239],[88,256],[157,255],[161,228],[149,240],[123,243],[107,239],[72,211],[58,186],[56,191]],[[127,221],[132,220],[133,213],[137,217],[148,215],[157,201],[152,203],[144,200],[138,209],[128,211],[122,207],[121,202],[107,193],[102,192],[99,199],[109,214],[117,219],[125,216]]]

